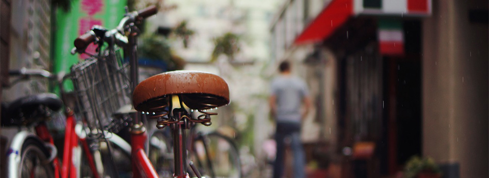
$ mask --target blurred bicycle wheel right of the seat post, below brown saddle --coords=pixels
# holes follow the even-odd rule
[[[200,173],[211,178],[241,177],[241,162],[231,138],[212,132],[195,139],[191,156]]]

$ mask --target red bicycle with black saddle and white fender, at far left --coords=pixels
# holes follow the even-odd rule
[[[109,173],[108,164],[102,164],[112,155],[106,153],[106,148],[96,147],[94,140],[86,137],[81,123],[76,123],[75,116],[69,107],[65,106],[65,136],[63,159],[57,158],[58,149],[48,131],[46,122],[51,114],[60,110],[66,103],[63,81],[69,76],[53,75],[40,69],[13,70],[11,76],[17,77],[13,83],[30,78],[47,78],[58,83],[61,89],[61,99],[55,94],[42,93],[19,98],[9,104],[2,104],[2,126],[18,127],[21,130],[11,140],[7,151],[8,177],[103,177]],[[63,101],[62,101],[63,99]],[[34,128],[35,132],[31,132]],[[75,129],[76,128],[76,129]],[[126,155],[129,159],[130,146],[117,135],[110,132],[108,144],[116,147],[116,152]],[[105,152],[105,153],[104,153]],[[122,157],[124,157],[122,155]],[[104,168],[105,166],[105,168]]]

